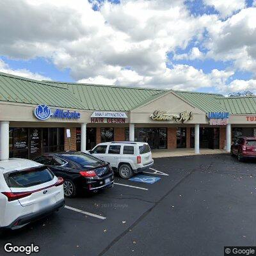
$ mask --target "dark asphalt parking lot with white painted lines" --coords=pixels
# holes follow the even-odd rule
[[[8,242],[34,243],[38,255],[83,256],[223,255],[223,246],[256,244],[255,161],[166,157],[153,168],[143,175],[155,183],[116,176],[114,188],[67,199],[65,209],[4,234],[0,255],[12,255]]]

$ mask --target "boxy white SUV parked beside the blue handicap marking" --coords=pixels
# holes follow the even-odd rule
[[[99,143],[88,153],[109,162],[123,179],[129,179],[134,173],[143,172],[154,164],[150,147],[145,142]]]

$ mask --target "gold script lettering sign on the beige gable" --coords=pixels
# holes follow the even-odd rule
[[[180,114],[172,114],[172,113],[167,113],[166,111],[156,110],[156,111],[154,111],[154,113],[152,115],[150,115],[150,118],[152,120],[156,120],[156,121],[175,120],[175,122],[186,123],[189,120],[193,120],[193,113],[184,111]]]

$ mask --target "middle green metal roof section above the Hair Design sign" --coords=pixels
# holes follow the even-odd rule
[[[163,93],[164,90],[140,87],[124,87],[115,85],[61,83],[44,81],[67,88],[83,104],[84,109],[130,111],[141,102],[151,99],[152,95]]]

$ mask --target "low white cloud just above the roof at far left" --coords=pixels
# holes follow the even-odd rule
[[[26,68],[13,69],[10,68],[3,60],[0,60],[0,72],[12,74],[15,76],[22,76],[26,78],[36,79],[36,80],[51,80],[50,77],[42,76],[38,73],[32,73]]]

